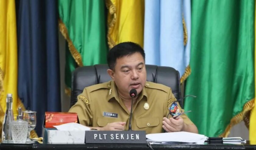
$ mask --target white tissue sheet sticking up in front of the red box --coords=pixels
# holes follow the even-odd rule
[[[56,127],[57,130],[60,130],[60,131],[88,131],[88,130],[90,130],[89,127],[86,127],[86,126],[83,126],[81,124],[77,124],[74,122],[62,124],[59,126],[53,126],[53,127]]]

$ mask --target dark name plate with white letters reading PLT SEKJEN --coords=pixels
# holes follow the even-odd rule
[[[145,131],[85,131],[85,143],[146,144]]]

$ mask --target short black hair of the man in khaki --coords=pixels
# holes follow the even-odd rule
[[[114,70],[117,58],[132,55],[134,53],[140,53],[145,61],[145,52],[143,48],[140,47],[139,44],[133,42],[123,42],[117,44],[108,52],[109,69]]]

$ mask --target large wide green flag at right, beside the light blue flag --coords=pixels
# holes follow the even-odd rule
[[[191,1],[186,111],[200,134],[227,136],[254,99],[255,1]]]

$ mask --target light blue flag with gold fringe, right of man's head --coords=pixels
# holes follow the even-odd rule
[[[185,73],[190,59],[190,0],[145,0],[146,64]]]

